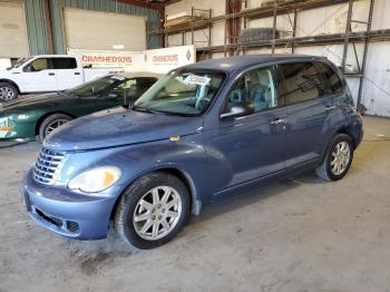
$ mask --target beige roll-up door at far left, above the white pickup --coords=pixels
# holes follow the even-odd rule
[[[27,57],[28,48],[23,3],[0,0],[0,58]]]

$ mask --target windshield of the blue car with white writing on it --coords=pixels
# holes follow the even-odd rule
[[[222,71],[173,71],[147,90],[134,109],[196,116],[208,108],[224,79]]]

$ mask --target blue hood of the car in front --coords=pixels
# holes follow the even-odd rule
[[[191,135],[203,126],[201,117],[140,113],[124,107],[75,119],[48,136],[43,146],[86,150]]]

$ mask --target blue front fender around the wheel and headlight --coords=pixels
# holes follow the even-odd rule
[[[202,134],[195,134],[202,135]],[[189,135],[189,136],[195,136]],[[125,192],[137,178],[152,172],[170,172],[186,184],[192,196],[192,211],[201,212],[208,204],[207,163],[202,145],[193,143],[189,136],[183,140],[148,142],[123,147],[74,152],[66,159],[57,184],[66,186],[76,175],[99,166],[116,166],[121,176],[115,187],[101,195],[117,196]]]

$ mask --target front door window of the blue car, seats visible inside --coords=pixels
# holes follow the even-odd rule
[[[230,111],[234,104],[243,101],[251,103],[255,113],[277,106],[271,68],[254,69],[240,77],[227,95],[224,111]]]

